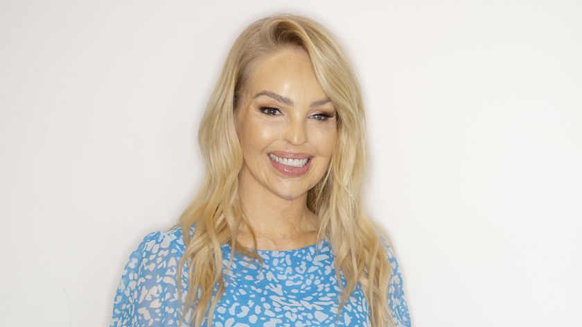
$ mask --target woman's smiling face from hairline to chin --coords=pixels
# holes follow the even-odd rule
[[[335,107],[308,54],[284,48],[261,59],[239,98],[241,187],[285,200],[306,196],[326,173],[337,139]]]

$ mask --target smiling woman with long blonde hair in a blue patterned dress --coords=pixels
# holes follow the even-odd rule
[[[112,326],[410,326],[362,207],[363,110],[328,30],[288,14],[251,24],[202,118],[200,192],[130,256]]]

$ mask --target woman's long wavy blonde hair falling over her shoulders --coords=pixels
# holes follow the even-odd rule
[[[292,14],[259,19],[236,39],[200,123],[198,141],[206,176],[177,224],[182,227],[186,244],[179,267],[187,263],[190,274],[184,309],[194,306],[188,324],[201,326],[206,310],[207,324],[211,324],[224,292],[222,245],[229,242],[231,254],[240,249],[243,254],[258,258],[236,238],[240,224],[246,224],[255,236],[238,198],[243,154],[234,127],[234,111],[238,92],[256,64],[285,46],[299,46],[308,53],[321,89],[337,110],[336,148],[326,175],[308,191],[307,200],[308,208],[319,217],[317,240],[329,240],[335,254],[337,281],[342,283],[340,269],[346,281],[337,315],[360,283],[371,308],[371,325],[394,326],[387,299],[391,266],[380,240],[388,238],[363,208],[367,143],[360,85],[333,34],[312,19]],[[254,244],[256,249],[256,238]],[[178,269],[179,299],[182,277]],[[215,285],[218,293],[213,297]],[[180,320],[184,317],[186,310]]]

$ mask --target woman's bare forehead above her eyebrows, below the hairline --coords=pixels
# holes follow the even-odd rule
[[[256,94],[268,90],[288,96],[325,96],[308,53],[302,48],[282,48],[258,59],[243,87]]]

